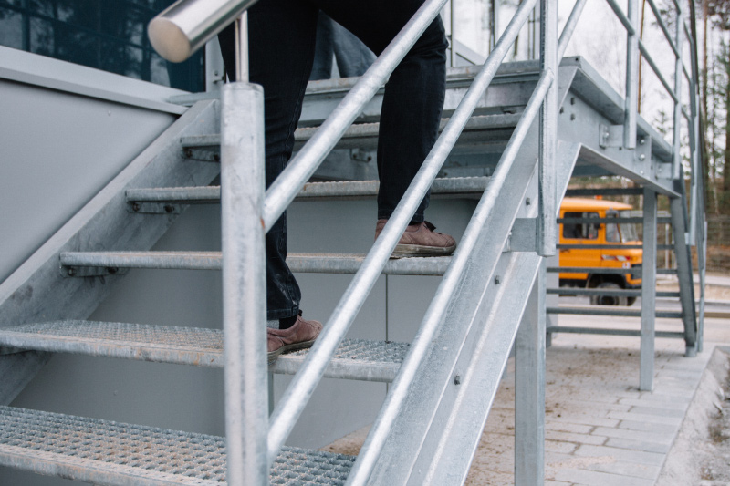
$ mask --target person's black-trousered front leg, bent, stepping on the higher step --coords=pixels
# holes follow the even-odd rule
[[[313,1],[378,55],[423,3],[422,0]],[[438,135],[447,46],[441,18],[437,17],[386,85],[378,142],[379,219],[391,216]],[[423,221],[428,200],[426,195],[412,222]]]

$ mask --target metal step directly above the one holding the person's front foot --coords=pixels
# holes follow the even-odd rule
[[[436,179],[431,186],[434,197],[481,196],[489,183],[488,177],[454,177]],[[331,199],[369,199],[378,194],[379,181],[309,182],[297,196],[297,201],[319,201]],[[165,202],[179,204],[210,204],[221,201],[220,186],[164,187],[150,189],[128,189],[130,204]],[[137,208],[135,211],[139,211]]]

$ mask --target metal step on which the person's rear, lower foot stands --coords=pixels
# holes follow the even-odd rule
[[[345,339],[330,362],[326,377],[391,382],[407,343]],[[0,354],[18,349],[120,357],[139,361],[224,367],[223,331],[198,327],[149,326],[94,321],[56,321],[0,329]],[[308,349],[287,353],[269,368],[297,373]]]

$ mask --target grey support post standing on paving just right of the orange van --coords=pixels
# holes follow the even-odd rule
[[[643,202],[639,389],[641,391],[652,391],[654,388],[654,327],[656,320],[656,192],[645,187]]]

